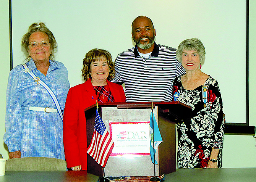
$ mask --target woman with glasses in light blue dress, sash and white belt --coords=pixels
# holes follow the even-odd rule
[[[4,142],[9,158],[65,159],[62,111],[70,84],[66,67],[53,61],[57,42],[44,23],[33,23],[22,48],[28,62],[10,71],[6,92]]]

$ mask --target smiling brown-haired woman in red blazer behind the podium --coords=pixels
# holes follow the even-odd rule
[[[125,102],[121,85],[109,82],[114,64],[107,50],[92,49],[84,60],[83,84],[70,88],[63,121],[63,142],[67,167],[87,170],[86,119],[84,109],[98,102]]]

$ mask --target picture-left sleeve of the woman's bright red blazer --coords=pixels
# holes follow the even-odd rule
[[[63,119],[63,142],[68,168],[81,165],[78,147],[79,94],[75,89],[68,91]]]

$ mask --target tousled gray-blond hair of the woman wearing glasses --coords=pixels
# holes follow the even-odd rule
[[[50,46],[52,49],[49,59],[52,60],[54,58],[54,53],[57,52],[58,44],[57,44],[52,32],[45,26],[45,24],[43,22],[32,23],[31,26],[29,26],[29,28],[28,28],[28,32],[25,35],[23,35],[23,37],[22,37],[21,50],[24,52],[26,59],[30,60],[30,56],[28,53],[29,37],[32,33],[35,33],[35,32],[44,32],[45,34],[48,35],[48,38],[50,41]]]

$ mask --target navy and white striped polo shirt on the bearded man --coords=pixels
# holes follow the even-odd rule
[[[176,49],[155,43],[147,59],[137,46],[120,53],[112,82],[125,83],[126,102],[172,101],[172,81],[183,74]]]

